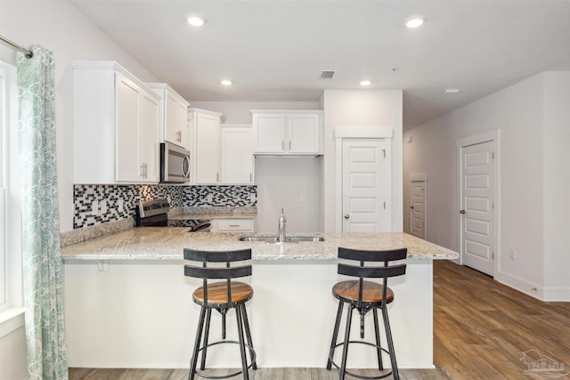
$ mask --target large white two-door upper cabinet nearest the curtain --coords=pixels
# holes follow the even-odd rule
[[[74,182],[159,182],[159,95],[117,62],[71,65]]]

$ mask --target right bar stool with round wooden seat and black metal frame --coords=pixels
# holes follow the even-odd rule
[[[335,366],[340,370],[340,380],[343,380],[346,375],[354,376],[363,379],[379,379],[394,375],[395,380],[400,378],[398,374],[398,367],[395,360],[394,343],[392,342],[392,332],[390,330],[390,322],[388,319],[387,304],[394,301],[394,292],[387,287],[387,278],[401,276],[406,271],[406,264],[399,263],[389,265],[390,262],[396,260],[403,260],[407,255],[407,248],[388,250],[388,251],[362,251],[355,249],[348,249],[338,247],[338,258],[346,260],[355,260],[360,262],[358,266],[349,265],[346,263],[338,263],[338,274],[358,277],[358,280],[348,280],[338,282],[332,287],[332,295],[338,299],[337,320],[335,321],[334,331],[332,333],[332,341],[330,343],[329,360],[327,362],[327,369]],[[365,262],[384,262],[384,266],[366,266]],[[383,279],[383,283],[365,281],[365,278]],[[337,343],[338,327],[340,327],[340,319],[342,318],[342,311],[345,303],[349,305],[346,311],[346,329],[345,338],[341,343]],[[350,327],[352,323],[353,310],[356,309],[360,314],[360,337],[364,338],[364,316],[368,311],[372,311],[374,318],[374,332],[376,337],[376,344],[365,341],[351,341]],[[382,319],[384,319],[384,329],[387,336],[387,349],[380,345],[379,323],[378,323],[378,309],[382,311]],[[392,371],[380,376],[362,376],[346,371],[346,356],[348,354],[349,344],[367,344],[376,347],[379,369],[383,370],[382,352],[387,352],[390,356],[390,363]],[[338,346],[343,346],[342,361],[338,366],[333,356],[335,349]]]

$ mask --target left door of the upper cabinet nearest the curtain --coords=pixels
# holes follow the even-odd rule
[[[139,128],[141,89],[122,74],[117,73],[117,141],[115,145],[116,181],[140,181]]]

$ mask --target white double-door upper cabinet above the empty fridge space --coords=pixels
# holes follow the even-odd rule
[[[252,109],[256,155],[322,154],[322,111]]]

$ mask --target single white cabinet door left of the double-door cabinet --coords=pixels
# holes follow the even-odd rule
[[[222,184],[253,184],[253,132],[251,126],[221,128]]]

